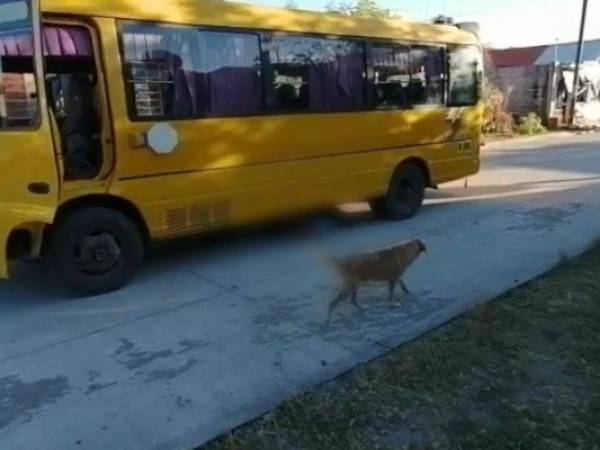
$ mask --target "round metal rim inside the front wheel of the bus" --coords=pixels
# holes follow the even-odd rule
[[[121,247],[112,233],[90,233],[76,244],[73,256],[82,272],[104,275],[121,262]]]

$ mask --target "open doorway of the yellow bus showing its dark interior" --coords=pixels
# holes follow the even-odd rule
[[[103,158],[90,32],[82,26],[45,25],[43,38],[46,91],[61,138],[65,178],[94,178]]]

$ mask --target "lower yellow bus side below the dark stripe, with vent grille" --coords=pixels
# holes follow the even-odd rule
[[[402,160],[429,161],[454,147],[436,144],[122,180],[112,193],[140,207],[154,237],[169,237],[375,198],[385,193]],[[431,162],[432,177],[443,179],[446,164]],[[190,194],[190,186],[202,186],[202,193]]]

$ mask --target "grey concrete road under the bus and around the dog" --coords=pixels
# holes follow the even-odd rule
[[[66,297],[39,264],[0,282],[0,448],[189,449],[581,253],[600,237],[600,137],[488,146],[482,172],[405,223],[364,205],[161,246],[110,295]],[[325,326],[318,254],[407,238],[405,281]]]

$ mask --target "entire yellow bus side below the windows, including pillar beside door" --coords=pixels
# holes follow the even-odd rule
[[[153,236],[381,195],[409,156],[430,164],[434,183],[473,172],[459,154],[471,136],[443,107],[169,121],[179,144],[156,154],[139,138],[159,121],[128,118],[115,22],[97,23],[117,151],[110,192],[142,210]]]

